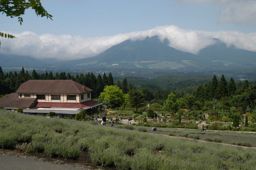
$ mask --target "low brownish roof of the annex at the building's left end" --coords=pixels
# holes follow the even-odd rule
[[[11,93],[0,100],[0,107],[29,108],[33,102],[35,102],[35,98],[19,98],[18,93]]]

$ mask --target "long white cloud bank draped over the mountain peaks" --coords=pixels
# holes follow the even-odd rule
[[[3,31],[5,32],[5,31]],[[11,32],[8,32],[11,33]],[[201,49],[214,44],[213,38],[233,44],[237,48],[256,51],[256,33],[241,33],[238,31],[198,31],[184,30],[177,26],[159,26],[146,31],[122,33],[108,37],[82,38],[71,35],[37,35],[26,31],[11,33],[16,39],[2,39],[1,53],[28,55],[34,58],[56,58],[61,60],[93,57],[104,52],[113,45],[125,40],[143,40],[145,37],[157,35],[161,41],[168,39],[169,46],[197,54]]]

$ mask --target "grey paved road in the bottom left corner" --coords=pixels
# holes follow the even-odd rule
[[[0,154],[1,170],[81,170],[70,166]]]

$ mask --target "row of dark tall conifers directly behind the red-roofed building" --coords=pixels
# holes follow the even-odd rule
[[[93,89],[92,92],[93,98],[98,97],[106,85],[114,85],[112,74],[109,73],[108,76],[104,72],[103,76],[98,74],[96,77],[92,72],[88,72],[87,74],[81,73],[76,74],[76,76],[71,76],[70,73],[56,73],[55,75],[50,71],[49,73],[46,71],[45,73],[37,73],[35,69],[32,74],[28,73],[28,70],[22,70],[20,72],[9,72],[4,74],[2,68],[0,67],[0,95],[9,94],[11,92],[15,92],[20,84],[28,81],[30,79],[71,79],[74,80],[86,87]]]

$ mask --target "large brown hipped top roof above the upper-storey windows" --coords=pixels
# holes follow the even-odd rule
[[[83,89],[85,88],[85,90]],[[17,93],[75,93],[90,92],[92,89],[73,80],[28,80],[22,83]]]

